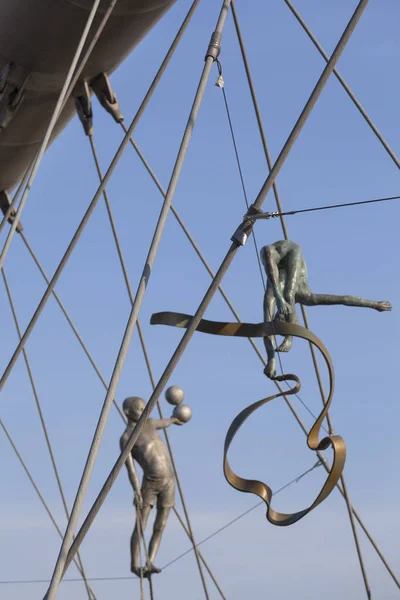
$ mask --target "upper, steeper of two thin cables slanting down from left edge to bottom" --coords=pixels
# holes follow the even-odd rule
[[[10,290],[10,286],[9,286],[9,283],[8,283],[8,280],[7,280],[7,277],[6,277],[6,272],[5,272],[4,267],[1,269],[1,274],[2,274],[2,277],[3,277],[4,287],[6,289],[6,294],[7,294],[8,302],[10,304],[11,312],[12,312],[12,315],[13,315],[13,319],[14,319],[14,323],[15,323],[15,328],[17,330],[18,337],[20,338],[21,337],[21,328],[19,326],[17,312],[15,310],[15,304],[14,304],[14,301],[13,301],[13,298],[12,298],[12,295],[11,295],[11,290]],[[41,426],[42,426],[44,438],[45,438],[45,441],[46,441],[47,450],[49,452],[50,461],[51,461],[51,464],[52,464],[52,467],[53,467],[53,471],[54,471],[54,475],[55,475],[55,478],[56,478],[57,487],[59,489],[60,496],[61,496],[61,501],[62,501],[62,504],[63,504],[63,507],[64,507],[64,512],[65,512],[65,515],[66,515],[67,519],[69,519],[69,510],[68,510],[68,505],[67,505],[67,501],[66,501],[66,498],[65,498],[64,489],[63,489],[63,486],[62,486],[62,483],[61,483],[60,473],[59,473],[58,468],[57,468],[57,463],[56,463],[54,452],[53,452],[53,448],[52,448],[52,445],[51,445],[51,442],[50,442],[50,437],[49,437],[49,433],[48,433],[48,430],[47,430],[47,425],[46,425],[46,422],[45,422],[45,419],[44,419],[44,415],[43,415],[41,403],[40,403],[40,400],[39,400],[39,395],[38,395],[38,392],[37,392],[37,389],[36,389],[35,380],[33,378],[33,373],[32,373],[32,369],[31,369],[31,366],[30,366],[30,362],[29,362],[29,358],[28,358],[28,353],[27,353],[27,351],[26,351],[25,348],[22,350],[22,354],[23,354],[23,357],[24,357],[24,362],[25,362],[26,370],[27,370],[29,381],[30,381],[30,384],[31,384],[31,388],[32,388],[32,392],[33,392],[33,397],[35,399],[36,408],[37,408],[37,411],[38,411],[38,414],[39,414],[39,419],[40,419],[40,423],[41,423]],[[85,585],[88,598],[89,598],[89,600],[91,600],[92,598],[93,598],[93,600],[96,600],[96,596],[95,596],[94,592],[90,589],[90,587],[88,585],[87,577],[86,577],[86,573],[85,573],[85,569],[83,567],[83,562],[82,562],[81,556],[80,556],[80,554],[78,552],[76,554],[76,557],[77,557],[79,566],[81,568],[82,577],[83,577],[83,583]]]

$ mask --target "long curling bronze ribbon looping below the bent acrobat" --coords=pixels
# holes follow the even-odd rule
[[[150,323],[152,325],[170,325],[173,327],[186,328],[188,327],[191,319],[192,317],[186,314],[162,312],[153,314]],[[292,335],[295,337],[305,339],[314,344],[314,346],[318,348],[318,350],[324,357],[329,374],[329,394],[323,410],[318,415],[314,425],[312,426],[307,436],[307,445],[311,450],[314,451],[326,450],[327,448],[329,448],[329,446],[331,446],[333,450],[333,463],[320,493],[308,508],[289,514],[275,511],[270,506],[273,495],[271,488],[262,481],[244,479],[242,477],[239,477],[238,475],[236,475],[236,473],[232,471],[227,459],[228,450],[233,441],[234,436],[236,435],[237,431],[240,429],[242,424],[246,421],[246,419],[255,410],[257,410],[264,404],[267,404],[271,400],[274,400],[275,398],[279,398],[284,395],[296,394],[299,391],[301,384],[300,380],[296,375],[288,374],[276,377],[276,381],[295,381],[296,385],[288,391],[280,392],[279,394],[274,394],[273,396],[268,396],[268,398],[264,398],[263,400],[254,402],[254,404],[251,404],[250,406],[242,410],[232,421],[225,437],[223,465],[224,475],[228,483],[240,492],[256,494],[257,496],[259,496],[259,498],[264,500],[265,504],[267,505],[267,519],[273,525],[292,525],[293,523],[296,523],[297,521],[302,519],[306,514],[311,512],[314,508],[321,504],[321,502],[323,502],[325,498],[329,496],[342,474],[344,463],[346,460],[346,446],[341,436],[328,435],[319,440],[320,429],[323,420],[328,413],[334,391],[335,376],[331,357],[329,356],[329,353],[325,348],[324,344],[316,335],[314,335],[308,329],[305,329],[304,327],[301,327],[300,325],[295,325],[293,323],[285,323],[282,321],[255,324],[228,323],[219,321],[208,321],[206,319],[202,319],[197,326],[197,330],[203,333],[209,333],[213,335],[225,335],[247,338],[266,337],[270,335]]]

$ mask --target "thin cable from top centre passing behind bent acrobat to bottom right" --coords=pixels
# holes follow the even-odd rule
[[[257,102],[257,98],[256,98],[254,84],[253,84],[252,79],[251,79],[250,67],[249,67],[249,63],[248,63],[248,60],[247,60],[246,50],[245,50],[245,47],[244,47],[244,42],[243,42],[243,38],[242,38],[242,35],[241,35],[239,21],[238,21],[238,18],[237,18],[237,14],[236,14],[234,3],[233,3],[233,6],[232,6],[232,13],[233,13],[235,28],[236,28],[236,32],[237,32],[237,36],[238,36],[238,40],[239,40],[239,45],[240,45],[240,48],[241,48],[242,59],[243,59],[243,63],[244,63],[244,66],[245,66],[247,77],[248,77],[248,85],[249,85],[249,89],[250,89],[250,92],[251,92],[251,96],[253,98],[253,106],[254,106],[254,110],[255,110],[256,116],[257,116],[257,121],[258,121],[258,125],[259,125],[259,131],[260,131],[260,134],[261,134],[261,139],[262,139],[262,142],[263,142],[263,145],[264,145],[265,155],[266,155],[267,163],[268,163],[268,166],[269,166],[269,162],[270,162],[269,156],[270,155],[269,155],[268,146],[267,146],[267,142],[266,142],[266,136],[265,136],[265,133],[264,133],[264,127],[263,127],[263,123],[262,123],[260,111],[259,111],[259,108],[258,108],[258,102]],[[269,168],[270,168],[270,166],[269,166]],[[275,195],[275,200],[276,200],[278,211],[280,213],[282,213],[283,212],[282,211],[282,205],[281,205],[279,196]],[[287,228],[286,228],[283,216],[281,216],[281,224],[282,224],[282,230],[283,230],[283,234],[285,236],[285,239],[288,239],[288,231],[287,231]],[[302,310],[302,315],[303,315],[303,320],[304,320],[305,327],[307,329],[309,329],[307,312],[306,312],[306,310],[305,310],[305,308],[303,306],[301,306],[301,310]],[[311,357],[312,357],[312,361],[313,361],[313,365],[314,365],[314,369],[315,369],[315,374],[316,374],[316,377],[317,377],[318,387],[319,387],[320,394],[321,394],[322,403],[323,403],[323,405],[325,405],[326,404],[326,397],[325,397],[325,392],[324,392],[324,388],[323,388],[321,373],[320,373],[318,362],[317,362],[316,353],[315,353],[315,350],[314,350],[312,344],[309,344],[309,346],[310,346]],[[328,428],[329,428],[330,435],[332,435],[334,433],[334,430],[333,430],[333,427],[332,427],[332,423],[331,423],[331,420],[330,420],[329,413],[327,414],[326,419],[327,419],[327,423],[328,423]],[[360,542],[359,542],[359,539],[358,539],[358,533],[357,533],[355,522],[354,522],[354,515],[353,515],[353,511],[352,511],[352,505],[351,505],[351,501],[350,501],[350,498],[349,498],[349,495],[348,495],[348,491],[347,491],[346,482],[345,482],[345,479],[344,479],[343,475],[341,476],[341,484],[342,484],[342,489],[343,489],[343,496],[344,496],[344,499],[346,501],[346,506],[347,506],[347,510],[348,510],[348,514],[349,514],[350,525],[351,525],[351,529],[352,529],[352,533],[353,533],[353,538],[354,538],[354,542],[355,542],[355,546],[356,546],[357,556],[358,556],[358,560],[359,560],[359,564],[360,564],[361,574],[362,574],[363,581],[364,581],[364,587],[365,587],[366,595],[367,595],[367,598],[371,598],[371,590],[370,590],[370,587],[369,587],[367,572],[366,572],[366,569],[365,569],[364,560],[363,560],[363,556],[362,556],[362,552],[361,552],[361,546],[360,546]]]

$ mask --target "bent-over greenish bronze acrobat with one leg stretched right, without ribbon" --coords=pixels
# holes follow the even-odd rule
[[[267,289],[264,295],[264,322],[274,318],[297,323],[295,304],[320,306],[343,304],[373,308],[379,312],[392,310],[390,302],[375,302],[356,296],[335,296],[314,294],[308,287],[307,266],[300,246],[290,240],[264,246],[260,251],[261,261],[267,275]],[[275,315],[276,309],[276,315]],[[286,336],[277,352],[288,352],[292,347],[292,336]],[[271,337],[264,338],[268,363],[264,370],[267,377],[276,375],[275,350]]]

